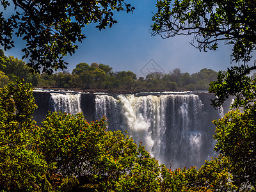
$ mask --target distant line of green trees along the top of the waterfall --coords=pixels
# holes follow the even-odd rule
[[[129,90],[132,92],[208,90],[209,83],[216,81],[217,72],[203,68],[200,72],[182,73],[175,68],[168,74],[152,72],[145,78],[137,78],[131,71],[114,72],[112,67],[102,63],[79,63],[72,73],[63,71],[55,74],[31,74],[29,67],[13,56],[4,56],[0,50],[0,86],[20,77],[33,87],[68,88],[93,90]]]

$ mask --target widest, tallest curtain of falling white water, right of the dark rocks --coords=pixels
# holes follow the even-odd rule
[[[95,118],[106,115],[110,130],[127,130],[159,163],[173,161],[172,168],[200,166],[214,155],[214,130],[205,124],[203,108],[194,94],[95,98]]]

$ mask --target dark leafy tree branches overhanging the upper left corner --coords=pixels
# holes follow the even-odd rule
[[[116,23],[114,12],[134,9],[124,0],[1,0],[4,12],[12,5],[14,12],[9,18],[0,13],[1,46],[4,50],[14,47],[14,35],[26,40],[22,52],[23,58],[29,58],[28,66],[35,72],[42,66],[42,72],[49,73],[67,68],[63,56],[75,52],[77,41],[85,38],[82,29],[86,25],[97,23],[99,30],[111,28]]]

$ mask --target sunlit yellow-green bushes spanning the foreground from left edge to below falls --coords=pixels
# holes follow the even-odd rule
[[[198,170],[172,170],[127,133],[106,131],[104,117],[87,122],[81,113],[54,112],[37,126],[31,120],[35,108],[29,84],[18,79],[1,88],[1,191],[235,191],[244,184],[255,186],[241,174],[243,164],[234,172],[237,167],[225,153]],[[227,124],[226,118],[217,126]]]

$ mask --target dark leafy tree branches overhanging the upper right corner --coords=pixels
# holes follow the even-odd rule
[[[193,35],[191,44],[204,51],[215,50],[224,41],[233,45],[234,61],[247,62],[256,45],[255,4],[255,0],[158,0],[152,35]]]

